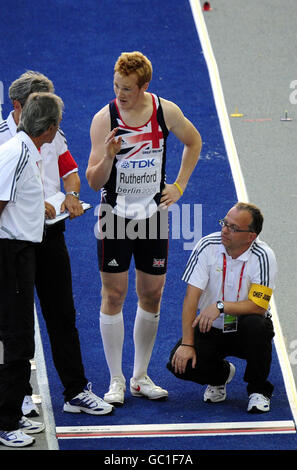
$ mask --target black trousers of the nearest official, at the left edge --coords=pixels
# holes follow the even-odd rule
[[[0,241],[0,429],[16,430],[34,357],[33,245]]]

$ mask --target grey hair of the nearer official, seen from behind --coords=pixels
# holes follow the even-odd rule
[[[39,137],[51,125],[59,125],[64,103],[54,93],[32,93],[22,109],[18,131]]]

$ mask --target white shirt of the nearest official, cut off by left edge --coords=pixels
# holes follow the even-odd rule
[[[25,132],[0,145],[0,238],[41,242],[44,196],[38,168],[40,154]]]

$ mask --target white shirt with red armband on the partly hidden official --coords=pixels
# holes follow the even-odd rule
[[[11,139],[17,126],[13,119],[13,111],[7,119],[0,124],[0,144]],[[40,165],[41,178],[44,186],[44,197],[55,195],[61,191],[60,178],[66,178],[70,173],[78,171],[77,164],[68,150],[66,137],[61,129],[50,144],[43,144],[41,149],[42,164]]]

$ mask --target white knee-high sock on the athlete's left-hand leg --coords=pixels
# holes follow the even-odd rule
[[[106,315],[100,312],[100,332],[110,378],[122,377],[122,353],[124,343],[123,312]]]

